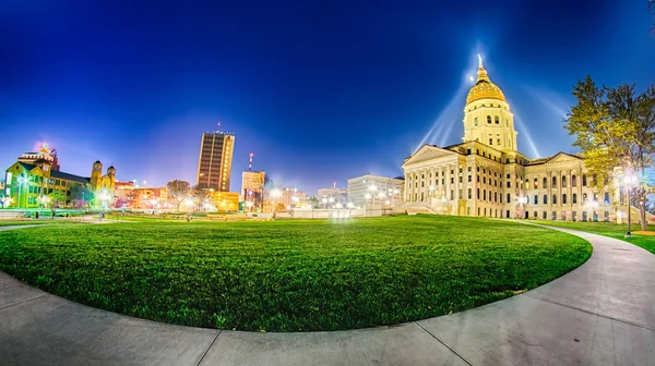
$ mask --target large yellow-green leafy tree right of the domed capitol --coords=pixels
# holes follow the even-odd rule
[[[655,85],[635,95],[634,85],[598,87],[591,76],[573,87],[577,103],[568,113],[565,129],[575,135],[573,144],[584,152],[592,185],[598,191],[616,168],[633,173],[639,184],[634,197],[640,209],[642,230],[646,196],[653,188],[646,169],[655,155]]]

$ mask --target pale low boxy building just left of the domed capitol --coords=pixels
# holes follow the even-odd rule
[[[348,200],[355,206],[397,206],[403,199],[404,181],[366,174],[348,180]]]

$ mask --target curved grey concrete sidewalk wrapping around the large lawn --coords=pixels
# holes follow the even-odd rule
[[[655,365],[655,256],[557,230],[586,239],[594,253],[548,284],[458,314],[336,332],[158,324],[0,272],[0,365]]]

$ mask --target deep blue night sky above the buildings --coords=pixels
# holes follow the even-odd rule
[[[136,4],[139,3],[139,4]],[[203,132],[236,134],[231,191],[254,170],[309,194],[401,175],[421,143],[463,135],[481,53],[528,157],[591,74],[655,83],[646,0],[0,2],[0,167],[43,141],[62,170],[195,183]]]

